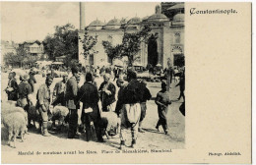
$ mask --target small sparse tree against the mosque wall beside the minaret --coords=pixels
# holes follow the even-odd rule
[[[88,29],[85,28],[84,38],[79,38],[79,39],[83,44],[83,49],[84,49],[83,55],[85,60],[87,60],[88,57],[95,56],[98,53],[98,51],[95,50],[97,35],[95,36],[89,35]]]

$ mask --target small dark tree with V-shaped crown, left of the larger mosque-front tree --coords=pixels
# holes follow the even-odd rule
[[[109,57],[111,61],[111,64],[113,63],[113,59],[121,57],[121,52],[122,52],[121,44],[117,44],[113,46],[111,42],[103,40],[102,45],[104,47],[106,55]]]

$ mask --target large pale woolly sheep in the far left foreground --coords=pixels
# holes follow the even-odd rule
[[[11,139],[14,139],[13,147],[16,148],[16,138],[21,134],[22,141],[28,132],[28,120],[22,112],[11,112],[3,117],[3,125],[8,130],[8,145],[11,146]]]

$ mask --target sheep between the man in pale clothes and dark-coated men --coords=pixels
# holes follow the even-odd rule
[[[58,126],[63,126],[65,123],[65,118],[69,114],[69,109],[65,106],[55,106],[51,111],[51,121],[53,126],[55,126],[55,121],[58,120]]]

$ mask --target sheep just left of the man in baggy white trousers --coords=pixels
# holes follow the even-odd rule
[[[107,139],[120,133],[120,118],[114,112],[101,112],[101,120],[99,127],[102,129],[103,134]]]

